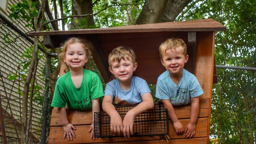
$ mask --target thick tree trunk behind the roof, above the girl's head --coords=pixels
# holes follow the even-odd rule
[[[93,3],[92,0],[73,0],[72,2],[72,15],[85,15],[85,14],[93,14]],[[76,20],[78,22],[76,22]],[[86,23],[79,26],[80,20],[85,19]],[[93,16],[87,17],[74,17],[71,19],[71,26],[69,29],[88,29],[90,26],[95,25],[93,20]]]

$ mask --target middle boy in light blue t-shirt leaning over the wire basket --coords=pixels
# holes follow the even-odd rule
[[[116,79],[106,84],[102,109],[110,116],[112,133],[124,137],[133,134],[134,117],[154,107],[147,82],[132,76],[137,68],[136,56],[131,48],[119,46],[108,57],[109,71]],[[122,120],[114,105],[135,105]]]

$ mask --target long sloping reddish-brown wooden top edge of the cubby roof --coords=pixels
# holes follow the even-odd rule
[[[183,22],[163,22],[157,24],[140,24],[134,26],[119,26],[112,28],[96,28],[86,30],[69,31],[40,31],[30,32],[30,36],[35,35],[67,35],[85,33],[131,33],[131,32],[150,32],[150,31],[225,31],[226,28],[211,18],[201,20],[189,20]]]

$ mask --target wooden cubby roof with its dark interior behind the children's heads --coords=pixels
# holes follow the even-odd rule
[[[165,70],[161,65],[158,54],[159,45],[163,41],[171,37],[178,37],[186,42],[189,61],[186,63],[185,68],[193,73],[195,63],[194,51],[199,41],[196,39],[197,35],[202,35],[204,32],[225,30],[226,28],[221,23],[213,19],[202,19],[113,28],[40,31],[31,32],[29,35],[46,36],[44,43],[48,48],[59,47],[62,42],[70,37],[82,37],[93,42],[93,58],[105,82],[108,82],[111,77],[108,71],[108,55],[110,52],[117,46],[131,47],[135,51],[138,63],[134,74],[147,80],[148,83],[155,84],[158,76]],[[213,39],[209,41],[213,41]]]

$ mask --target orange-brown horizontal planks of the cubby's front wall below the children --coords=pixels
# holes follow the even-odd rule
[[[189,144],[197,144],[198,142],[202,142],[202,144],[206,144],[207,141],[207,131],[208,131],[208,116],[209,116],[209,99],[201,99],[200,100],[200,110],[199,116],[196,124],[196,135],[194,138],[187,140],[185,138],[185,133],[182,135],[177,135],[174,128],[173,123],[169,120],[169,137],[170,142],[189,142]],[[184,127],[189,122],[190,118],[190,105],[178,106],[175,107],[176,114],[180,119],[180,122]],[[163,137],[154,136],[154,137],[130,137],[130,138],[113,138],[112,140],[109,138],[98,138],[98,140],[92,140],[90,138],[91,133],[88,132],[89,127],[91,125],[92,113],[91,110],[88,111],[76,111],[67,109],[68,120],[71,124],[76,126],[75,134],[76,138],[72,141],[68,141],[67,139],[63,139],[63,127],[59,121],[58,109],[54,108],[52,110],[51,122],[50,122],[50,136],[48,143],[49,144],[88,144],[88,143],[113,143],[113,142],[131,142],[131,141],[143,141],[155,143],[167,143]],[[178,140],[175,140],[178,139]],[[153,140],[153,141],[151,141]],[[162,141],[163,140],[163,141]]]

